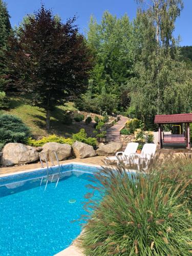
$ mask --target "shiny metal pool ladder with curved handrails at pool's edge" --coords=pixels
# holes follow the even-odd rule
[[[56,188],[57,185],[58,185],[59,179],[60,179],[60,163],[59,163],[59,160],[58,160],[58,157],[57,157],[56,152],[53,151],[53,153],[54,153],[54,155],[55,155],[55,157],[56,157],[57,164],[58,164],[58,179],[57,179],[56,186],[55,186],[55,188]],[[42,162],[41,155],[44,156],[44,160],[45,160],[46,166],[47,166],[47,182],[46,182],[46,186],[45,186],[45,190],[46,190],[47,184],[48,184],[48,182],[49,182],[49,164],[48,164],[47,157],[46,157],[45,153],[44,153],[44,152],[41,152],[41,153],[39,154],[39,159],[40,159],[41,167],[44,168],[44,163]],[[54,161],[53,161],[53,158],[52,158],[52,155],[50,155],[50,158],[51,158],[51,164],[52,164],[52,166],[55,166]],[[51,183],[52,183],[52,181],[53,181],[54,175],[55,175],[55,174],[53,174],[53,176],[52,176]],[[41,178],[40,186],[41,186],[41,184],[42,184],[42,180],[43,180],[43,179],[44,179],[44,177]],[[44,190],[44,191],[45,191],[45,190]]]

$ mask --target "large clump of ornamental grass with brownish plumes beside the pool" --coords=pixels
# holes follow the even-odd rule
[[[105,194],[100,203],[91,197],[85,205],[88,212],[94,208],[79,238],[86,255],[191,255],[190,199],[185,193],[192,163],[177,161],[185,165],[184,179],[168,163],[147,174],[127,174],[123,164],[97,174],[92,188]]]

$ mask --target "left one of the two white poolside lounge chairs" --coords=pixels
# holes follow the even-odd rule
[[[120,161],[125,160],[126,158],[130,157],[132,154],[136,153],[137,147],[139,143],[137,142],[130,142],[127,144],[125,151],[119,151],[116,153],[114,157],[107,157],[106,160],[110,161]]]

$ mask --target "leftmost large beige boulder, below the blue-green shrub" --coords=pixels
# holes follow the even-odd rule
[[[34,148],[28,148],[21,143],[8,143],[3,148],[1,164],[11,166],[14,164],[26,164],[38,160],[39,156]]]

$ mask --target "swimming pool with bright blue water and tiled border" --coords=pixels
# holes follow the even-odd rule
[[[81,232],[73,221],[87,214],[83,196],[98,169],[62,165],[57,187],[55,179],[45,191],[46,169],[0,177],[0,255],[54,255],[67,248]]]

